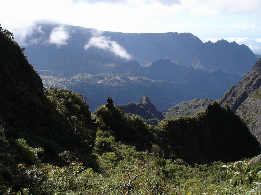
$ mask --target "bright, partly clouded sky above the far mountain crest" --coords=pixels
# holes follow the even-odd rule
[[[261,0],[12,0],[1,2],[3,29],[22,40],[35,22],[123,33],[192,33],[261,54]],[[21,44],[20,44],[21,45]]]

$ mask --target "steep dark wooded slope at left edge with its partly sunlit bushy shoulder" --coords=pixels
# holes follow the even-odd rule
[[[0,126],[7,139],[12,144],[24,139],[31,147],[44,148],[44,162],[64,164],[59,154],[66,151],[85,164],[92,163],[96,130],[87,103],[70,90],[44,90],[40,76],[8,32],[1,28]]]

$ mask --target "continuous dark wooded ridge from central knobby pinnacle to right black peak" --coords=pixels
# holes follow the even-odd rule
[[[112,102],[110,98],[108,100]],[[128,116],[113,102],[109,105],[96,110],[98,122],[103,124],[100,126],[116,141],[133,145],[138,150],[149,150],[155,144],[164,150],[165,158],[182,159],[191,165],[232,161],[260,153],[259,142],[229,105],[222,107],[214,102],[205,112],[164,119],[154,128],[137,115]],[[234,141],[221,144],[225,135]],[[251,145],[242,144],[246,140]],[[228,152],[224,153],[224,150]]]

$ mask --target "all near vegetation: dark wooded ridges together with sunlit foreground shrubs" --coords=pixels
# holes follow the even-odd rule
[[[238,161],[260,145],[228,104],[155,127],[111,97],[91,114],[0,41],[0,194],[260,194],[260,158]]]

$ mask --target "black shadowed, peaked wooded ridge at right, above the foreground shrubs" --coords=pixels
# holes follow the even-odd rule
[[[217,102],[193,116],[165,119],[159,122],[155,131],[176,157],[189,164],[227,162],[257,155],[260,150],[257,139],[241,119],[228,105],[221,107]],[[226,142],[226,139],[230,141]],[[242,145],[246,139],[249,139],[248,144]]]

